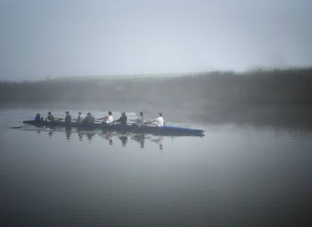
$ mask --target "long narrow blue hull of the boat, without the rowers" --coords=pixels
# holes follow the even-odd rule
[[[185,128],[185,127],[177,127],[177,126],[136,126],[136,125],[128,125],[128,126],[120,126],[120,125],[110,125],[104,126],[100,123],[94,123],[90,125],[81,125],[76,122],[72,122],[67,124],[63,121],[54,121],[54,122],[46,122],[46,121],[34,121],[28,120],[23,121],[24,124],[29,124],[33,126],[61,126],[61,127],[78,127],[78,129],[102,129],[103,131],[114,131],[119,133],[135,133],[135,134],[160,134],[160,135],[194,135],[194,136],[203,136],[204,131],[200,129],[193,128]]]

